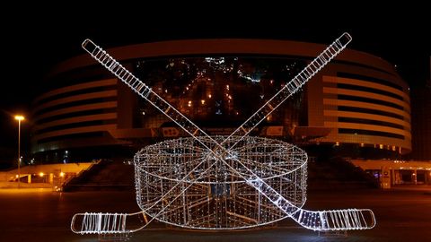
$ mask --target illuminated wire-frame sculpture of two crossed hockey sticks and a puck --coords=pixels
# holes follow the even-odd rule
[[[94,59],[191,137],[149,145],[136,153],[136,201],[141,212],[77,213],[71,229],[79,234],[130,233],[154,219],[189,229],[242,229],[286,217],[318,231],[374,228],[369,209],[304,210],[306,153],[289,143],[248,135],[350,41],[348,33],[342,34],[233,134],[210,136],[102,48],[84,40],[83,48]]]

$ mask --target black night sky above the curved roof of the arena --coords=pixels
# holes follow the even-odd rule
[[[83,11],[84,6],[76,5],[49,5],[42,11],[32,7],[36,6],[4,9],[13,17],[0,17],[5,67],[0,89],[0,169],[2,162],[13,157],[17,146],[18,125],[13,115],[29,116],[31,99],[44,74],[59,61],[84,54],[81,42],[87,38],[102,48],[207,38],[292,39],[330,44],[347,31],[353,37],[348,48],[381,56],[397,65],[412,88],[424,87],[429,79],[431,21],[425,6],[373,12],[367,6],[352,6],[306,14],[298,14],[304,9],[293,6],[246,9],[217,5],[211,7],[211,13],[208,8],[177,11],[176,6],[167,10],[142,5],[130,13],[130,8],[121,4],[110,7],[108,12],[93,8]],[[30,141],[30,124],[31,120],[22,123],[24,153]]]

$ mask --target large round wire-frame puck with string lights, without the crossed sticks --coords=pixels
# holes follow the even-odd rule
[[[214,137],[218,143],[225,138]],[[208,146],[211,143],[200,139]],[[147,215],[155,217],[163,211],[157,220],[188,229],[244,229],[286,218],[286,213],[224,162],[206,159],[212,155],[197,149],[195,142],[191,137],[180,138],[149,145],[136,153],[136,199]],[[229,147],[230,143],[224,144]],[[232,152],[279,194],[295,206],[303,206],[307,172],[307,155],[303,150],[289,143],[248,136]],[[199,164],[201,160],[205,162]],[[226,160],[236,171],[247,172],[235,160]],[[183,180],[197,164],[193,175]],[[163,196],[163,191],[173,186],[177,188]],[[189,188],[182,191],[186,186]],[[176,194],[180,197],[174,199]],[[153,206],[160,197],[173,203]]]

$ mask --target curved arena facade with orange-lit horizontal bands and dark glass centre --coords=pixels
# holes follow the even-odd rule
[[[209,134],[229,134],[324,48],[197,39],[108,51]],[[87,149],[102,156],[182,135],[90,56],[57,65],[41,89],[33,102],[31,149],[42,160],[64,160],[66,151]],[[409,86],[383,59],[346,49],[255,134],[407,153]]]

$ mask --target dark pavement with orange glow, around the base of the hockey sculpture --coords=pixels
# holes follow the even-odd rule
[[[304,208],[370,208],[374,229],[347,237],[319,236],[290,220],[258,230],[196,232],[154,222],[129,241],[431,241],[431,190],[310,191]],[[56,193],[38,189],[0,190],[0,241],[97,241],[75,235],[70,221],[77,212],[137,212],[133,192]]]

